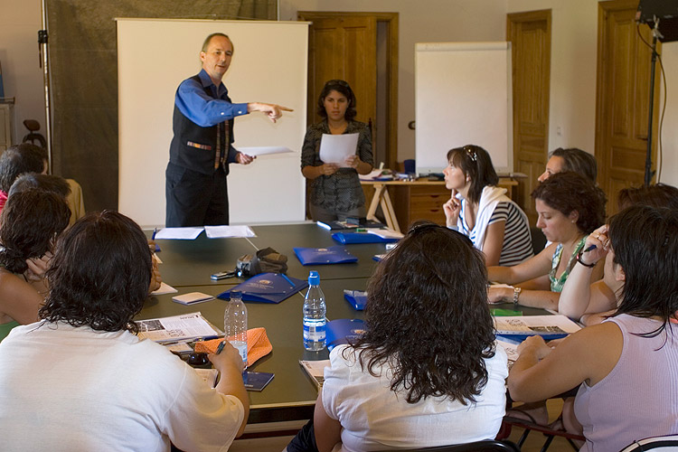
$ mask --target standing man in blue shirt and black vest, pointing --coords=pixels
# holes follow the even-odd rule
[[[229,164],[249,165],[254,160],[231,145],[233,118],[262,111],[276,122],[282,110],[292,111],[275,104],[231,103],[221,79],[232,56],[231,39],[210,34],[200,52],[202,71],[176,90],[174,138],[165,171],[167,227],[229,224]]]

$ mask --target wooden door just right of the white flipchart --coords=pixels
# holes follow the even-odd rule
[[[549,146],[551,10],[508,14],[506,35],[513,61],[513,171],[527,174],[519,179],[515,201],[533,224],[537,213],[530,193]]]

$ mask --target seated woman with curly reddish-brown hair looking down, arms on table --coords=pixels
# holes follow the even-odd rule
[[[520,287],[490,287],[489,301],[558,309],[560,290],[577,263],[587,235],[605,220],[605,193],[585,177],[553,174],[532,192],[537,227],[551,241],[537,256],[514,267],[490,267],[490,281]],[[602,277],[602,265],[593,270]]]

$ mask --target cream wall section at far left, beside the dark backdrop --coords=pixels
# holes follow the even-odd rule
[[[0,62],[5,97],[14,104],[14,142],[28,133],[24,119],[40,122],[45,133],[42,68],[38,30],[42,28],[40,0],[0,0]]]

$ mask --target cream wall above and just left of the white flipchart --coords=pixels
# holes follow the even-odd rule
[[[570,0],[568,0],[570,1]],[[505,0],[280,0],[280,20],[297,11],[400,13],[398,71],[398,160],[414,158],[414,44],[504,41]]]

